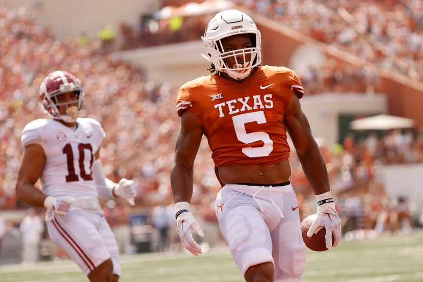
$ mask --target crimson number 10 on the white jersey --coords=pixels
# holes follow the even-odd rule
[[[88,150],[90,152],[90,165],[89,165],[90,174],[87,174],[87,172],[85,171],[85,164],[84,164],[85,150]],[[73,166],[73,151],[72,151],[72,146],[70,145],[70,143],[67,143],[63,147],[62,151],[64,154],[66,154],[68,173],[69,173],[66,176],[66,182],[79,181],[80,178],[78,177],[78,175],[76,175],[75,168]],[[93,165],[94,155],[93,155],[93,148],[91,144],[89,143],[78,144],[78,151],[80,153],[80,160],[79,160],[80,176],[82,177],[83,180],[86,180],[86,181],[93,180],[93,177],[92,177],[93,172],[91,171],[91,167]]]

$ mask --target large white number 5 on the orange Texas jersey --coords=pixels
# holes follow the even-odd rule
[[[245,147],[242,152],[250,158],[254,157],[267,157],[273,151],[273,141],[270,139],[269,134],[266,132],[251,132],[247,133],[245,124],[248,122],[257,122],[258,124],[266,123],[265,112],[253,112],[232,117],[233,126],[238,140],[245,144],[253,143],[256,141],[263,141],[262,147]]]

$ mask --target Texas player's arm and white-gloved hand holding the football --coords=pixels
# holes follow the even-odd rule
[[[330,192],[325,162],[296,95],[292,96],[287,106],[285,124],[293,140],[301,166],[318,201],[316,212],[318,216],[311,224],[307,236],[311,237],[319,226],[324,226],[326,228],[326,247],[328,249],[332,247],[332,235],[335,239],[333,246],[336,247],[341,239],[341,221]]]

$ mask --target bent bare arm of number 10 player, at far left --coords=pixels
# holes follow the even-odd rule
[[[16,182],[16,195],[19,199],[35,207],[44,207],[47,198],[34,185],[40,178],[46,157],[39,144],[30,144],[24,148]]]

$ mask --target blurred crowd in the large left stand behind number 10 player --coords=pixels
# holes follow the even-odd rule
[[[38,88],[56,69],[68,70],[84,83],[86,114],[99,120],[107,133],[101,149],[105,173],[115,181],[124,175],[138,180],[138,201],[144,204],[163,200],[157,192],[169,196],[172,140],[179,126],[169,85],[146,81],[142,71],[112,62],[98,42],[81,46],[76,40],[57,41],[26,16],[6,8],[0,19],[0,52],[5,55],[0,60],[0,207],[22,207],[14,196],[20,132],[29,121],[44,117]],[[214,173],[212,166],[203,164],[208,159],[197,160],[199,169],[209,167]],[[200,183],[207,182],[206,171],[198,175]],[[154,199],[149,199],[151,192]]]

